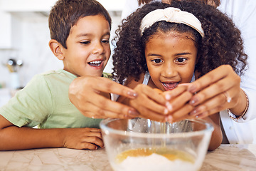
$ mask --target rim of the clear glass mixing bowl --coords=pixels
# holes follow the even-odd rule
[[[206,120],[202,120],[202,119],[196,119],[196,120],[186,119],[186,120],[191,121],[191,122],[196,122],[196,123],[202,123],[202,124],[206,125],[206,129],[204,129],[204,130],[196,130],[196,131],[188,132],[188,133],[170,133],[170,134],[134,133],[134,132],[128,132],[128,131],[124,131],[124,130],[116,130],[116,129],[107,127],[107,123],[110,123],[113,120],[130,120],[130,119],[121,119],[121,118],[104,119],[100,122],[100,128],[102,130],[102,133],[105,133],[107,135],[112,133],[115,135],[131,136],[134,138],[181,138],[181,137],[185,137],[185,136],[186,136],[186,138],[189,138],[189,137],[193,137],[196,135],[203,135],[206,132],[208,132],[208,133],[213,132],[213,125],[208,123]]]

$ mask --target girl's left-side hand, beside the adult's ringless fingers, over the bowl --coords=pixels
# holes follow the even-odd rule
[[[168,114],[164,95],[143,84],[137,85],[134,90],[138,95],[129,100],[129,105],[139,111],[139,117],[164,122]]]

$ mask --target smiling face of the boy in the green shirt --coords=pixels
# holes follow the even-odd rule
[[[85,16],[61,47],[64,70],[76,76],[102,76],[110,58],[110,25],[104,16]]]

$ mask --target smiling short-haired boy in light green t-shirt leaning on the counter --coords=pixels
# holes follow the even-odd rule
[[[104,146],[100,120],[82,115],[70,103],[68,88],[77,77],[102,76],[110,58],[110,15],[95,0],[59,0],[49,28],[50,49],[64,68],[35,76],[0,108],[0,150]]]

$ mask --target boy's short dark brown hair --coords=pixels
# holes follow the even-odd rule
[[[48,19],[50,38],[67,48],[66,41],[70,28],[85,16],[102,15],[109,22],[111,18],[107,10],[95,0],[59,0],[50,10]]]

